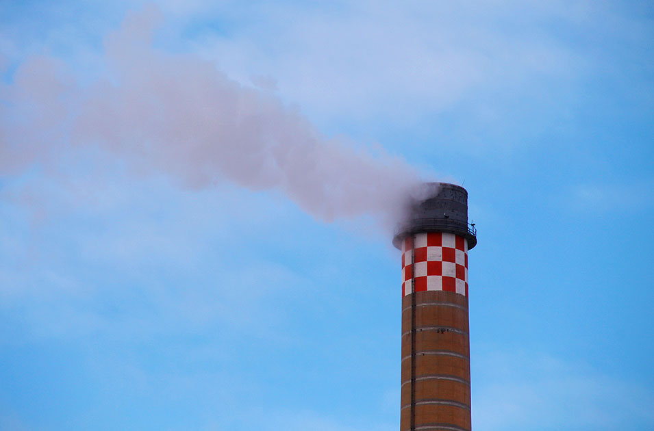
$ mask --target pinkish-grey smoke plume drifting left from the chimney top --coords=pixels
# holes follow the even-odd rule
[[[3,88],[0,173],[98,145],[188,187],[234,181],[279,190],[323,220],[397,218],[416,171],[398,157],[329,140],[277,96],[242,86],[210,62],[154,49],[156,10],[131,14],[105,40],[89,79],[36,57]]]

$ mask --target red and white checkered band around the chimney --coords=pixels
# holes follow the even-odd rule
[[[402,296],[427,290],[468,296],[468,241],[464,237],[429,232],[403,241]]]

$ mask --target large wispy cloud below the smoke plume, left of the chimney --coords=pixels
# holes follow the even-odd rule
[[[36,201],[25,203],[30,190]],[[276,223],[288,220],[271,196],[225,185],[189,193],[160,177],[135,182],[115,166],[92,177],[77,168],[33,174],[0,193],[0,309],[22,310],[40,336],[142,337],[164,330],[160,319],[177,328],[257,326],[242,309],[272,328],[283,310],[268,305],[304,283],[249,249],[265,244],[257,238],[274,241]],[[34,222],[35,212],[47,221]]]

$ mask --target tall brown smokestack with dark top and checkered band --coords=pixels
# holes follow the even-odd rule
[[[470,430],[468,192],[425,183],[393,244],[402,250],[401,431]]]

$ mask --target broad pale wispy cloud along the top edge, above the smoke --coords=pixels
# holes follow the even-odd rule
[[[548,31],[548,20],[579,25],[580,3],[237,6],[257,25],[230,27],[228,36],[206,36],[194,47],[242,81],[265,70],[281,94],[321,118],[411,123],[479,91],[579,77],[587,60]]]

